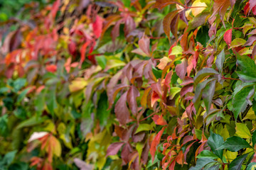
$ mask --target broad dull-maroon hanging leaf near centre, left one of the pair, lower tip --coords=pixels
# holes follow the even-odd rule
[[[120,125],[125,125],[129,122],[129,110],[127,108],[127,92],[122,94],[122,96],[117,101],[117,104],[114,106],[114,113],[119,120]]]

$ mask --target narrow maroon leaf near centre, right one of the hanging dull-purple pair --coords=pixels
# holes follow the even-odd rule
[[[129,108],[132,111],[132,114],[138,113],[138,107],[137,107],[137,101],[136,98],[139,97],[139,91],[135,86],[131,86],[130,89],[127,92],[127,102],[129,105]]]

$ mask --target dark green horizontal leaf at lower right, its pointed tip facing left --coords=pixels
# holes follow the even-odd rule
[[[218,147],[220,149],[228,149],[231,152],[238,152],[240,149],[251,148],[251,146],[241,137],[233,136],[228,137],[228,139],[223,143],[222,146]]]

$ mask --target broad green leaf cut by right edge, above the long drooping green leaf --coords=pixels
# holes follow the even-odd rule
[[[256,81],[256,64],[246,55],[238,55],[238,67],[240,71],[237,72],[238,77],[244,82]]]

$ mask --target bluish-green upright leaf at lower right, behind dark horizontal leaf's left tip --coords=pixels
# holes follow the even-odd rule
[[[216,154],[220,159],[223,159],[223,149],[217,150],[218,147],[223,145],[223,137],[210,132],[210,137],[208,138],[207,144],[209,145],[210,149]]]

